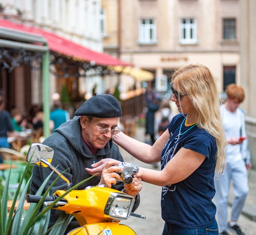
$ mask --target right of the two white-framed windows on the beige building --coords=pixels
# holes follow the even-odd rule
[[[197,25],[193,18],[181,19],[180,24],[180,43],[196,44],[197,42]]]

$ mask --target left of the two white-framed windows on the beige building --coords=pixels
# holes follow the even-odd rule
[[[139,25],[139,43],[156,43],[156,25],[154,19],[141,19]]]

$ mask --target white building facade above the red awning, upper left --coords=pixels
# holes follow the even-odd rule
[[[102,52],[100,0],[2,0],[5,17]]]

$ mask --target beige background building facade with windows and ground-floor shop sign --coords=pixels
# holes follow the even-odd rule
[[[168,77],[189,63],[203,63],[219,93],[241,84],[238,0],[131,0],[120,6],[120,57],[156,76],[156,88],[168,89]]]

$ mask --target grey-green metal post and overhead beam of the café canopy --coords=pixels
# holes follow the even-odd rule
[[[50,135],[50,76],[49,76],[49,47],[46,38],[24,33],[16,30],[10,30],[0,27],[0,47],[25,49],[29,51],[42,52],[42,100],[44,109],[44,136]],[[42,45],[30,44],[31,42],[39,42]]]

